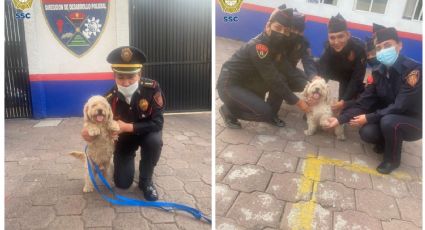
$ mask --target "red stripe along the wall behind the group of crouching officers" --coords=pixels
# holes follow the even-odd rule
[[[271,7],[259,6],[259,5],[250,4],[250,3],[243,3],[242,8],[246,9],[246,10],[254,10],[254,11],[259,11],[259,12],[269,13],[269,14],[271,12],[273,12],[273,10],[274,10]],[[319,23],[327,24],[329,22],[329,18],[314,16],[314,15],[306,15],[306,21],[312,21],[312,22],[319,22]],[[359,24],[359,23],[355,23],[355,22],[347,22],[347,26],[350,29],[372,32],[372,26],[368,26],[368,25],[364,25],[364,24]],[[398,31],[398,36],[401,37],[401,38],[407,38],[407,39],[422,41],[422,34],[414,34],[414,33],[410,33],[410,32]]]

